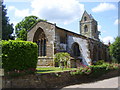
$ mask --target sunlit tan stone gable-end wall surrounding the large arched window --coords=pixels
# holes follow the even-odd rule
[[[54,65],[54,40],[55,40],[55,25],[40,21],[38,22],[30,31],[27,33],[27,41],[34,42],[34,36],[36,35],[37,30],[41,29],[45,34],[46,38],[46,55],[38,57],[38,65],[47,66]],[[41,33],[40,33],[41,34]],[[39,40],[39,37],[37,37]],[[43,61],[43,62],[42,62]]]

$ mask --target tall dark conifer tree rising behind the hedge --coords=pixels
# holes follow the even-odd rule
[[[11,34],[13,33],[13,24],[9,23],[9,17],[7,15],[7,9],[2,3],[2,40],[8,40],[13,38]]]

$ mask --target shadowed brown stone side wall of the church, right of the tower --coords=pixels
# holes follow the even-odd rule
[[[102,42],[95,40],[88,40],[90,58],[92,61],[105,60],[107,62],[111,61],[109,54],[109,46],[103,44]]]

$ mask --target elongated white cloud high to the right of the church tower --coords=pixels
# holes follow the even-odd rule
[[[103,12],[107,10],[114,10],[116,9],[115,5],[110,3],[100,3],[97,7],[92,9],[93,12]]]

